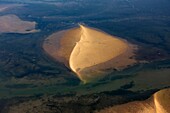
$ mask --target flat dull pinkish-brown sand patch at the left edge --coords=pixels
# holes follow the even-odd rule
[[[16,15],[0,16],[0,33],[34,33],[36,22],[22,21]]]

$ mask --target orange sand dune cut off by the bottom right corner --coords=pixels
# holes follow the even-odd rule
[[[145,101],[113,106],[96,113],[170,113],[170,88],[156,92]]]

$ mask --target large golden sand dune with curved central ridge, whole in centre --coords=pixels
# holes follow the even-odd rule
[[[83,25],[52,34],[44,41],[43,48],[85,83],[106,74],[106,71],[136,63],[132,58],[136,46]]]

